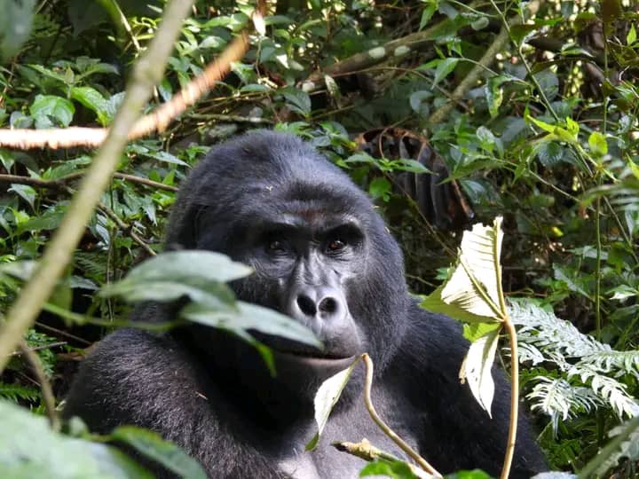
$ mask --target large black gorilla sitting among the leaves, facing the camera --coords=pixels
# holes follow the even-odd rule
[[[366,437],[404,457],[369,418],[363,367],[335,405],[318,448],[304,446],[316,431],[319,384],[367,351],[375,363],[373,402],[399,436],[442,473],[499,474],[510,401],[503,373],[493,373],[491,419],[458,379],[469,346],[461,327],[417,305],[383,219],[311,146],[270,131],[215,146],[182,186],[166,242],[169,249],[213,250],[248,264],[255,273],[233,282],[237,297],[302,322],[325,348],[255,333],[272,349],[273,377],[254,347],[223,330],[121,329],[83,362],[67,418],[80,416],[96,432],[121,424],[157,431],[211,478],[358,477],[364,460],[332,442]],[[134,316],[166,321],[179,306],[145,304]],[[520,420],[511,476],[544,469]]]

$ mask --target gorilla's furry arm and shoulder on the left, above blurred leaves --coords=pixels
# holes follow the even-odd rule
[[[198,459],[209,477],[281,477],[226,430],[211,406],[215,391],[201,377],[169,336],[121,329],[84,361],[64,415],[82,417],[99,433],[121,424],[152,429]]]

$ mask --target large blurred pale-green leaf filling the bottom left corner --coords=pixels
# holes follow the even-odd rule
[[[0,471],[12,479],[151,478],[122,452],[105,444],[63,436],[51,431],[48,421],[0,401]]]

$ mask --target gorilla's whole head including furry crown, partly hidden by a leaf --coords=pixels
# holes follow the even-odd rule
[[[318,350],[251,332],[272,348],[279,375],[296,376],[286,387],[312,389],[364,351],[381,371],[397,348],[391,339],[403,333],[409,301],[398,245],[367,196],[296,137],[258,132],[213,148],[180,189],[167,243],[248,264],[255,273],[233,283],[237,296],[287,314],[324,343]],[[261,359],[245,344],[188,327],[218,370],[258,375]]]

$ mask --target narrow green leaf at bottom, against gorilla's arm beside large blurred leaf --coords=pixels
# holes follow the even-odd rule
[[[111,438],[130,445],[148,459],[162,464],[171,472],[185,479],[206,479],[200,463],[188,456],[176,444],[165,441],[152,431],[134,426],[120,426],[111,433]]]

